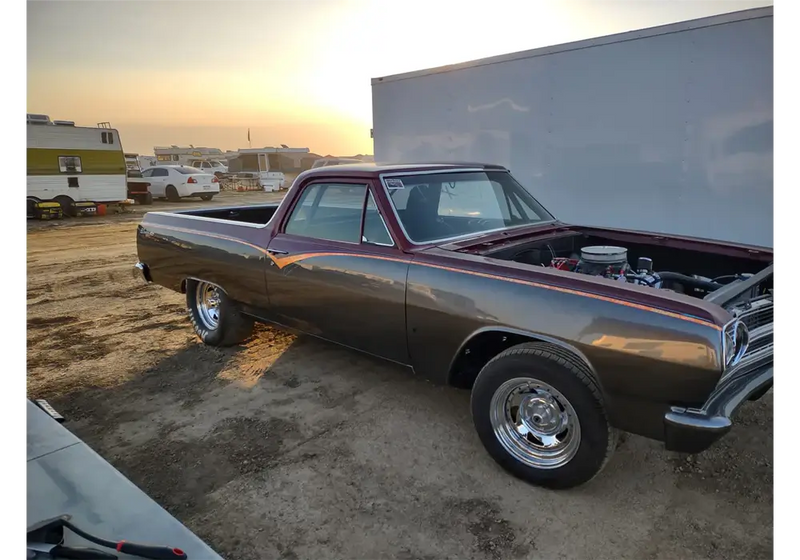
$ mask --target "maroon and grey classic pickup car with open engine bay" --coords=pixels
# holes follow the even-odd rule
[[[776,383],[774,250],[567,225],[499,166],[312,169],[280,205],[149,212],[137,245],[204,343],[269,322],[471,388],[488,453],[541,486],[620,431],[701,452]]]

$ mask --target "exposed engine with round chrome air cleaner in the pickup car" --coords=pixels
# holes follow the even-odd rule
[[[583,247],[580,257],[556,257],[550,262],[552,268],[568,270],[578,274],[602,276],[619,282],[649,286],[651,288],[671,289],[698,297],[718,290],[724,284],[711,278],[698,275],[686,275],[679,272],[656,272],[653,270],[653,259],[640,257],[636,266],[628,261],[628,250],[613,245],[593,245]],[[750,274],[736,275],[735,279],[746,279]]]

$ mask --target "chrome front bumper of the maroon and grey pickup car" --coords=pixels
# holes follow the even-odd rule
[[[777,382],[776,347],[772,342],[747,354],[725,373],[702,408],[672,407],[664,416],[666,448],[683,453],[708,449],[731,429],[731,417],[748,400],[756,400]]]

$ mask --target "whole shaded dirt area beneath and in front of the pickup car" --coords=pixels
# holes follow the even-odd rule
[[[742,451],[763,425],[745,424],[691,467],[632,438],[600,477],[559,494],[559,507],[539,519],[528,515],[530,500],[555,495],[512,479],[482,452],[467,391],[269,327],[233,348],[192,340],[123,383],[76,388],[51,402],[69,429],[229,559],[370,550],[397,558],[587,557],[590,543],[558,535],[582,530],[599,511],[607,531],[649,551],[642,558],[682,556],[695,547],[677,544],[684,534],[702,544],[695,552],[703,557],[752,558],[765,553],[769,527],[741,528],[774,523],[774,463],[763,464],[764,450]],[[726,524],[706,549],[703,533],[721,511]],[[355,538],[375,531],[380,538]],[[601,547],[597,558],[611,557],[613,543],[583,534]]]

